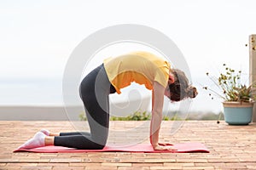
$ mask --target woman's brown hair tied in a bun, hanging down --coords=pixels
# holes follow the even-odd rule
[[[172,101],[180,101],[185,98],[195,98],[198,94],[195,87],[189,85],[189,80],[183,71],[173,69],[175,81],[169,84]]]

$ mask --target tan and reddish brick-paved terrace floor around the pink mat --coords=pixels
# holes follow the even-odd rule
[[[256,124],[163,122],[161,141],[201,142],[210,153],[28,153],[13,150],[41,128],[86,130],[85,122],[0,122],[0,169],[256,169]],[[77,125],[77,126],[73,126]],[[110,144],[148,143],[148,122],[110,122]],[[137,129],[136,129],[137,127]],[[172,131],[171,129],[176,130]],[[171,134],[172,132],[175,132]],[[129,141],[129,143],[128,143]]]

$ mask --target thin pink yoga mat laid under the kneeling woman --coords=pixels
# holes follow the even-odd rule
[[[177,150],[154,150],[151,144],[136,144],[130,146],[105,146],[103,150],[77,150],[74,148],[67,148],[62,146],[44,146],[39,148],[34,148],[30,150],[20,149],[17,151],[30,151],[38,153],[74,153],[74,152],[145,152],[145,153],[186,153],[186,152],[210,152],[204,144],[201,143],[185,143],[185,144],[174,144]]]

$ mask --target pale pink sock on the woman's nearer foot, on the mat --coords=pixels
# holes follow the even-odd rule
[[[27,140],[25,144],[21,144],[18,149],[32,149],[44,146],[45,137],[44,133],[38,132],[32,139]]]

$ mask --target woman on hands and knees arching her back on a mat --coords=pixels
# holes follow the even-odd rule
[[[172,101],[195,98],[196,88],[189,85],[183,71],[171,69],[170,64],[148,52],[134,52],[105,59],[91,71],[80,85],[80,97],[90,125],[90,133],[49,133],[43,129],[20,148],[58,145],[78,149],[100,150],[107,143],[109,94],[121,94],[120,89],[137,82],[152,90],[150,143],[154,150],[175,150],[170,144],[159,143],[164,95]]]

